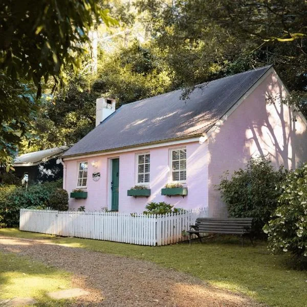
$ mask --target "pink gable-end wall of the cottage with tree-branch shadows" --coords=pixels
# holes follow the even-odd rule
[[[209,214],[227,215],[214,185],[220,176],[244,168],[250,157],[259,154],[271,158],[275,166],[295,168],[307,160],[305,121],[284,104],[267,104],[269,95],[286,94],[275,73],[270,74],[240,104],[209,138]]]

